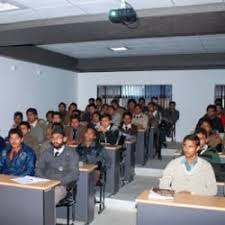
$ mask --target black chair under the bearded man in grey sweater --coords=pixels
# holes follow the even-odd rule
[[[76,195],[77,195],[77,184],[71,182],[67,188],[67,195],[62,199],[56,207],[66,207],[66,224],[70,225],[70,210],[72,209],[72,224],[75,222],[75,204],[76,204]]]

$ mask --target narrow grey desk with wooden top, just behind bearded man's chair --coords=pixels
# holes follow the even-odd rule
[[[76,220],[89,224],[94,220],[95,212],[95,169],[96,165],[80,166],[77,182],[75,216]],[[66,218],[66,209],[57,208],[57,217]]]

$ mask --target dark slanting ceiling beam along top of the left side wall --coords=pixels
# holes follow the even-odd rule
[[[77,71],[78,60],[35,46],[0,47],[0,55],[26,62]]]

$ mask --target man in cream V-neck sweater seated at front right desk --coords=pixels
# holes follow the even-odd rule
[[[214,171],[210,163],[198,157],[199,149],[199,138],[193,134],[187,135],[183,140],[184,156],[167,165],[159,187],[196,195],[216,195]]]

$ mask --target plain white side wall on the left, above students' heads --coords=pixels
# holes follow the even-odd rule
[[[59,102],[76,101],[77,74],[70,71],[0,57],[0,134],[5,136],[12,125],[13,113],[38,109],[45,118]],[[25,114],[24,114],[25,116]],[[26,116],[25,116],[26,118]]]

